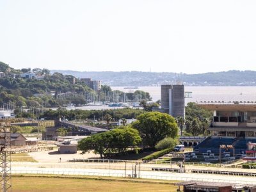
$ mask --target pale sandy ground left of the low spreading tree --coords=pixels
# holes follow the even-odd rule
[[[31,152],[28,153],[29,156],[33,157],[38,163],[61,163],[67,162],[68,160],[75,159],[88,159],[92,157],[99,157],[99,155],[93,154],[93,152],[81,154],[81,151],[77,151],[76,154],[59,154],[58,149],[40,151],[40,152]]]

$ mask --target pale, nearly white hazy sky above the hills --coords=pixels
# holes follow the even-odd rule
[[[0,0],[14,68],[256,70],[256,1]]]

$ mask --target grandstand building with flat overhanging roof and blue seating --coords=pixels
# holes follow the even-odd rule
[[[256,143],[256,104],[252,102],[199,103],[213,112],[211,136],[196,145],[198,152],[219,154],[230,150],[245,154],[248,143]],[[221,147],[226,145],[227,148]],[[231,149],[231,148],[232,149]],[[230,153],[232,154],[232,153]]]

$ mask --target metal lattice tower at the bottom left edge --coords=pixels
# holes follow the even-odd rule
[[[1,191],[12,191],[10,122],[0,126]]]

